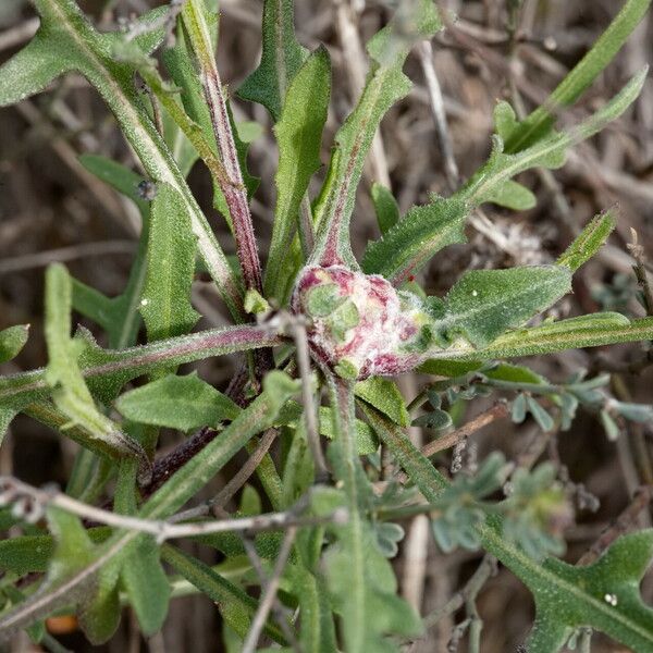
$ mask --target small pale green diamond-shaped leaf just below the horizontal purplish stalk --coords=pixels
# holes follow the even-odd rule
[[[123,394],[115,403],[127,419],[144,424],[192,431],[233,420],[241,408],[194,372],[169,374]]]

